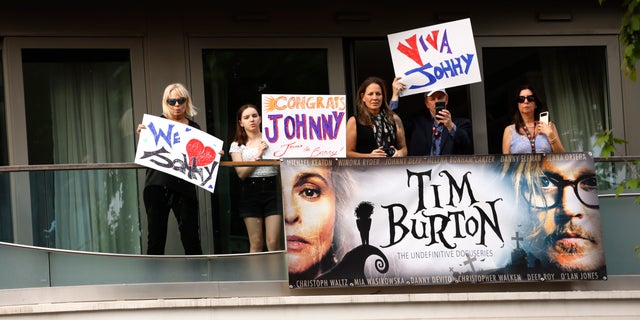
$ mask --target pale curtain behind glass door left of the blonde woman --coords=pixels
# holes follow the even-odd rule
[[[70,61],[38,63],[33,60],[47,60],[47,55],[31,53],[24,59],[26,110],[36,115],[27,117],[29,162],[131,162],[135,150],[129,61],[69,56]],[[34,237],[44,229],[48,234],[43,237],[55,239],[56,248],[140,253],[136,170],[56,171],[51,180],[39,186],[46,189],[40,194],[53,199],[43,207],[53,212],[33,213],[39,221],[39,226],[34,222]]]

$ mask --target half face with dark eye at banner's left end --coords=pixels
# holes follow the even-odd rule
[[[331,169],[286,167],[282,190],[289,272],[305,272],[322,260],[333,242],[335,189]]]

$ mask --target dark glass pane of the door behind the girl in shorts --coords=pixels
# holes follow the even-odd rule
[[[329,94],[326,49],[209,49],[203,67],[207,132],[223,141],[233,140],[236,110],[246,103],[261,106],[262,94]],[[231,160],[228,150],[223,160]],[[214,253],[249,252],[236,211],[235,170],[220,170],[217,183],[211,195]]]

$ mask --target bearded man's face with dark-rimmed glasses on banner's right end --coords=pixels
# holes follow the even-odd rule
[[[563,271],[604,266],[598,188],[587,161],[543,160],[540,193],[530,204],[550,263]]]

